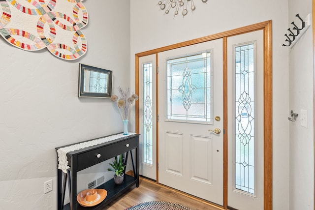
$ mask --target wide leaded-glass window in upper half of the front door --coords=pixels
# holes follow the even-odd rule
[[[211,123],[212,52],[167,60],[167,120]]]

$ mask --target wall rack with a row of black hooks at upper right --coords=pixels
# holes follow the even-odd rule
[[[300,17],[299,14],[296,14],[295,17],[299,19],[300,28],[294,23],[294,21],[291,23],[293,25],[292,30],[289,28],[287,29],[289,32],[284,34],[285,36],[285,42],[282,46],[290,47],[292,48],[295,43],[301,38],[301,36],[305,33],[308,28],[311,26],[311,14],[308,14],[305,18],[305,21]]]

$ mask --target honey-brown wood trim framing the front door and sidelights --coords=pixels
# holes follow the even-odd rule
[[[158,53],[160,52],[177,49],[181,47],[186,47],[193,44],[199,44],[202,42],[207,42],[207,41],[220,39],[220,38],[223,39],[223,49],[225,49],[223,50],[223,87],[226,86],[227,84],[227,62],[226,62],[227,37],[252,32],[255,30],[263,30],[263,39],[264,39],[264,73],[263,73],[264,74],[264,82],[263,82],[264,84],[264,88],[263,88],[264,90],[264,210],[272,210],[273,127],[272,127],[272,21],[271,20],[253,24],[250,26],[241,27],[234,30],[227,30],[221,33],[216,33],[213,35],[204,36],[201,38],[196,38],[189,41],[180,42],[177,44],[173,44],[173,45],[135,54],[135,92],[136,94],[139,95],[139,58],[140,57],[156,54],[157,59],[158,59]],[[157,62],[157,66],[158,66],[158,62]],[[157,77],[157,84],[158,84],[158,77]],[[223,88],[223,91],[224,91],[223,95],[227,95],[227,89]],[[158,94],[157,94],[156,100],[158,100]],[[139,133],[139,126],[140,126],[139,125],[139,100],[136,101],[135,110],[136,110],[135,128],[136,128],[136,132]],[[157,112],[158,112],[158,107],[157,107]],[[223,96],[223,119],[224,119],[223,129],[227,131],[227,97],[226,96]],[[158,124],[158,121],[157,121],[157,124]],[[158,146],[158,138],[157,138],[157,146]],[[223,135],[223,150],[224,150],[224,153],[223,153],[223,208],[227,209],[227,132],[225,132],[225,134]],[[157,158],[158,158],[158,151],[157,151]],[[158,177],[157,177],[157,182],[158,182]]]

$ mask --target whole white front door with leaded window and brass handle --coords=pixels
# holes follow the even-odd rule
[[[222,56],[222,39],[158,54],[158,181],[219,205]]]

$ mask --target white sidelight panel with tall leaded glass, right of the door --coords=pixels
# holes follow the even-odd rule
[[[264,209],[263,31],[227,39],[228,207]]]

